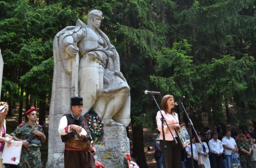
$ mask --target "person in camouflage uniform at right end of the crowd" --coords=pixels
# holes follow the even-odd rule
[[[244,134],[240,134],[240,140],[237,142],[237,146],[240,154],[240,163],[242,168],[252,168],[251,145],[245,140]]]

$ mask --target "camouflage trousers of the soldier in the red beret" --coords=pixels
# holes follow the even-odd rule
[[[22,146],[18,168],[41,168],[40,148],[33,147],[28,151]]]

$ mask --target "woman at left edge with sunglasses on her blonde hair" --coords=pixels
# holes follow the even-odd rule
[[[2,156],[2,149],[4,148],[4,142],[10,145],[12,142],[12,136],[6,134],[6,120],[5,117],[8,113],[8,104],[6,102],[0,102],[0,168],[4,167]]]

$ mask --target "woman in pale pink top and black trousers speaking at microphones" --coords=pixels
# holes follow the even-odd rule
[[[180,142],[178,140],[178,136],[174,128],[180,128],[178,114],[174,112],[174,96],[172,95],[165,95],[161,101],[161,112],[166,120],[164,122],[164,135],[166,140],[166,153],[164,149],[164,140],[163,140],[163,132],[162,132],[162,115],[161,112],[158,111],[156,114],[156,124],[158,131],[160,131],[160,148],[163,154],[163,164],[164,168],[166,168],[166,163],[168,164],[168,168],[180,168]],[[173,136],[176,138],[178,142],[175,144],[175,141],[172,137],[170,130],[167,128],[167,125],[170,127],[170,130]],[[167,154],[167,157],[165,156]],[[167,160],[166,160],[167,158]]]

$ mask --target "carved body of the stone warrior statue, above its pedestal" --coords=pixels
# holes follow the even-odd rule
[[[58,33],[60,56],[72,81],[76,80],[74,72],[78,72],[78,87],[74,86],[76,82],[72,85],[84,99],[83,114],[93,107],[104,126],[126,127],[130,118],[130,88],[120,72],[118,52],[99,29],[101,20],[102,12],[91,10],[87,25],[78,19],[76,26]],[[79,59],[78,71],[74,69],[74,59]]]

